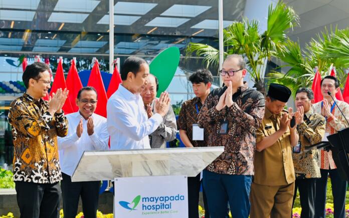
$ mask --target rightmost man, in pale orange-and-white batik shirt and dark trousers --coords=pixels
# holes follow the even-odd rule
[[[321,80],[321,93],[323,100],[313,105],[314,111],[326,118],[326,132],[322,140],[327,140],[327,136],[336,133],[341,128],[348,127],[345,118],[338,110],[336,104],[346,117],[349,116],[349,104],[335,98],[335,93],[339,91],[339,81],[336,77],[327,75]],[[327,93],[330,92],[334,98]],[[331,178],[334,217],[345,216],[345,192],[347,182],[339,176],[334,164],[332,151],[321,150],[320,158],[321,178],[316,181],[315,196],[315,217],[325,217],[326,187],[328,174]]]

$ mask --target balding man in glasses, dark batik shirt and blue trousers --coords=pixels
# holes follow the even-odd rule
[[[225,217],[228,202],[233,217],[247,218],[250,213],[255,132],[264,115],[264,96],[244,84],[246,73],[241,55],[227,56],[220,70],[225,86],[210,93],[198,115],[208,146],[224,146],[203,171],[212,218]]]

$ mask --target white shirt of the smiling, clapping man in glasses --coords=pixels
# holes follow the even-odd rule
[[[73,175],[76,166],[85,150],[107,150],[109,134],[107,130],[107,119],[93,113],[94,132],[87,133],[87,120],[81,116],[80,112],[66,115],[68,119],[68,135],[58,137],[58,149],[62,172]],[[76,134],[76,127],[82,118],[83,132],[80,136]]]

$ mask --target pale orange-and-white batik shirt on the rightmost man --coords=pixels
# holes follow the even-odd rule
[[[319,101],[315,104],[313,104],[313,109],[315,113],[319,113],[321,114],[321,102]],[[340,107],[340,109],[342,110],[342,112],[344,113],[344,115],[346,117],[349,116],[349,104],[341,101],[341,100],[337,100],[336,99],[336,104]],[[333,105],[333,102],[330,103],[330,106]],[[340,113],[340,111],[338,110],[337,106],[333,107],[332,110],[332,115],[330,117],[327,118],[326,120],[326,133],[328,134],[334,134],[336,133],[338,130],[342,129],[342,128],[346,128],[348,127],[345,118],[343,117],[343,115]],[[332,151],[325,151],[323,149],[320,150],[320,156],[319,156],[319,165],[321,169],[335,169],[337,168],[333,157],[332,157]]]

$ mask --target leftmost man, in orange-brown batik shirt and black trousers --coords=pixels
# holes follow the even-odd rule
[[[57,135],[68,133],[62,110],[68,91],[59,88],[49,102],[42,99],[51,84],[49,70],[42,62],[28,65],[22,77],[27,91],[10,105],[14,180],[21,218],[59,217],[62,174]]]

